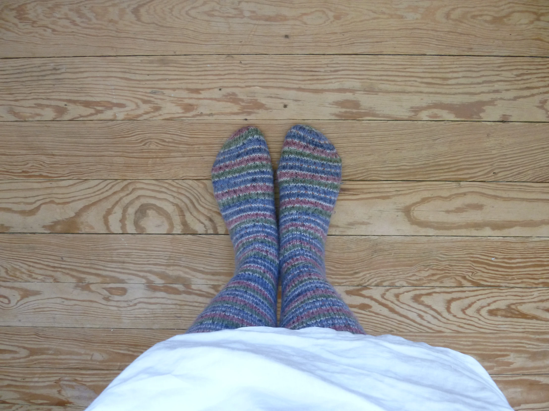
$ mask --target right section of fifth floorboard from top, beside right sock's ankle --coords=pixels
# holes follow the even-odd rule
[[[337,286],[547,287],[549,239],[329,236],[326,270]]]

